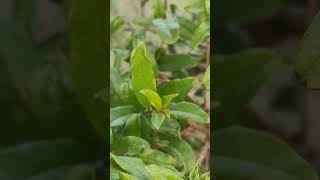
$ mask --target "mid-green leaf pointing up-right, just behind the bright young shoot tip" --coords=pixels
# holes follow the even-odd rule
[[[189,91],[193,88],[196,83],[196,78],[187,77],[184,79],[175,79],[161,84],[158,87],[158,93],[161,96],[168,94],[179,94],[173,99],[175,102],[183,101],[188,95]]]

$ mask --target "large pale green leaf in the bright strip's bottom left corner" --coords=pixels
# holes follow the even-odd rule
[[[145,164],[141,159],[129,156],[116,156],[111,154],[111,158],[125,172],[130,173],[141,180],[149,180],[149,174],[145,169]]]

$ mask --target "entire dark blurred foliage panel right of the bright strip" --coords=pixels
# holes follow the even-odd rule
[[[213,174],[318,179],[319,15],[309,25],[319,2],[215,0],[211,8]]]

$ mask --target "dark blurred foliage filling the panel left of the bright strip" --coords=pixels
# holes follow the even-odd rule
[[[66,5],[48,0],[0,2],[0,179],[102,178],[103,134],[97,128],[103,128],[106,120],[105,95],[100,91],[107,85],[104,74],[88,72],[99,66],[107,74],[106,1]],[[66,15],[70,9],[76,16]],[[96,23],[93,19],[102,19],[100,34],[85,26]],[[93,40],[84,45],[82,39]],[[78,53],[79,47],[88,45],[95,50]],[[90,53],[99,57],[90,59],[92,63],[74,61]],[[84,89],[79,79],[87,83],[90,78],[94,80],[86,87],[91,89]],[[92,94],[87,97],[83,91]],[[92,117],[85,106],[88,99],[98,101],[99,116]]]

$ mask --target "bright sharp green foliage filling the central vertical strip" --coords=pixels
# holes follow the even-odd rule
[[[178,17],[192,21],[190,13],[178,8],[169,11],[163,0],[149,3],[153,19],[135,18],[132,26],[128,18],[120,23],[116,16],[110,24],[111,32],[118,30],[111,34],[110,42],[110,178],[209,179],[209,173],[199,170],[202,163],[196,162],[197,148],[181,132],[189,122],[199,126],[210,122],[202,103],[187,99],[192,89],[208,91],[205,87],[210,86],[210,71],[198,70],[200,60],[207,60],[203,56],[207,49],[200,45],[209,43],[210,3],[194,0],[185,6],[192,19],[201,17],[188,38],[181,34],[186,27]],[[147,37],[149,32],[151,37]],[[120,42],[126,33],[128,39]],[[189,75],[190,69],[201,76]]]

